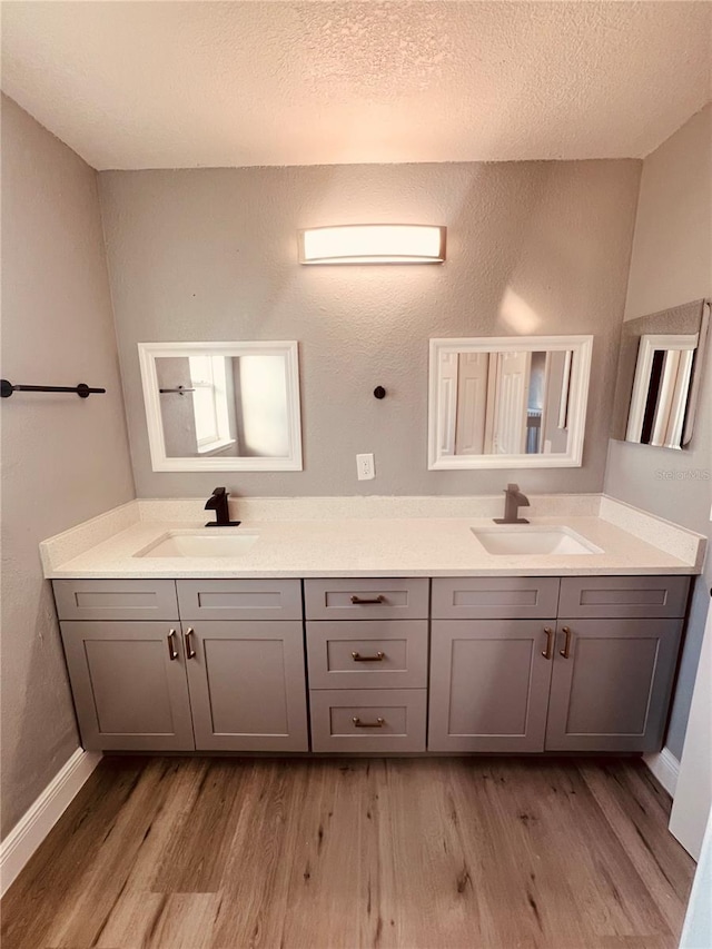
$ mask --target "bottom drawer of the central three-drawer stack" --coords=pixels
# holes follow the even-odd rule
[[[425,689],[310,693],[313,751],[425,751]]]

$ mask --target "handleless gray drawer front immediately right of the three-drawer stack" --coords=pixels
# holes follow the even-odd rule
[[[536,620],[556,615],[557,576],[454,576],[433,581],[434,620]]]

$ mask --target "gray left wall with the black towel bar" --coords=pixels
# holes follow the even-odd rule
[[[78,748],[38,543],[134,497],[97,176],[2,99],[2,836]]]

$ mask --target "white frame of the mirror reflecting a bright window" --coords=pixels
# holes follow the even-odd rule
[[[189,353],[221,354],[237,356],[285,357],[287,389],[287,425],[289,431],[289,455],[281,458],[267,457],[169,457],[166,454],[156,359],[180,357]],[[301,464],[301,414],[299,409],[299,362],[295,340],[268,340],[261,343],[139,343],[138,356],[144,384],[144,403],[148,427],[148,444],[151,467],[155,472],[300,472]]]

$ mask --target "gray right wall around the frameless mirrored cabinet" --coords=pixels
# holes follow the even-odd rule
[[[712,297],[712,106],[643,164],[625,318]],[[712,357],[708,346],[694,439],[675,452],[611,442],[605,491],[712,537]],[[695,583],[666,743],[682,754],[712,585]]]

